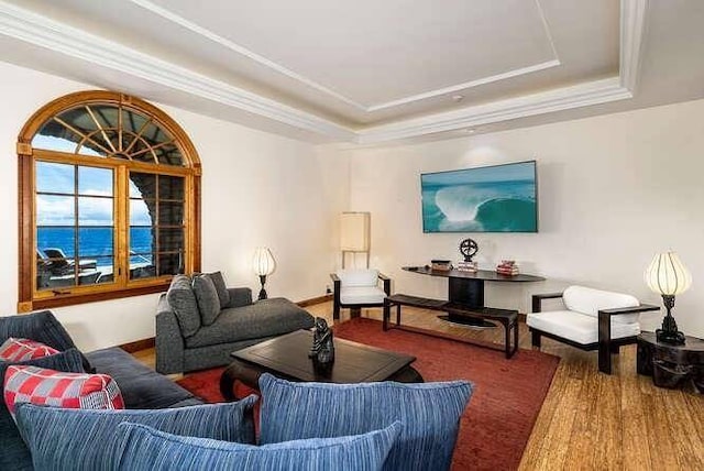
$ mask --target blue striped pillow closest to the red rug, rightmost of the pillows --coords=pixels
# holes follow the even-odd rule
[[[263,374],[260,391],[261,443],[359,435],[400,420],[384,469],[442,470],[450,468],[473,384],[292,383]]]

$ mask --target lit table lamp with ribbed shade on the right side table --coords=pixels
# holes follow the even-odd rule
[[[674,296],[684,293],[692,285],[692,275],[676,253],[666,252],[656,254],[646,270],[645,278],[650,289],[662,295],[668,311],[662,319],[662,328],[656,330],[656,338],[659,342],[683,344],[684,333],[678,330],[671,310],[674,307]]]

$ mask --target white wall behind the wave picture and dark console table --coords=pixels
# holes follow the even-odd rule
[[[487,305],[529,309],[529,295],[580,283],[661,305],[642,273],[659,251],[679,252],[692,288],[676,297],[680,329],[704,337],[704,100],[427,144],[342,152],[351,157],[351,210],[372,212],[372,263],[395,292],[447,296],[447,281],[403,272],[460,260],[479,242],[480,267],[516,259],[547,282],[487,284]],[[535,234],[424,234],[419,174],[538,161]],[[654,328],[662,315],[644,317]]]

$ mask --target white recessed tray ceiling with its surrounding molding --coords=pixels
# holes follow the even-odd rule
[[[219,118],[384,142],[630,98],[647,7],[14,0],[0,1],[0,45],[8,62]]]

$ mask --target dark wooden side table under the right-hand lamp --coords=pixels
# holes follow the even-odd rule
[[[651,375],[660,387],[676,387],[690,381],[697,393],[704,393],[704,340],[685,337],[684,344],[659,342],[654,332],[638,336],[638,374]]]

